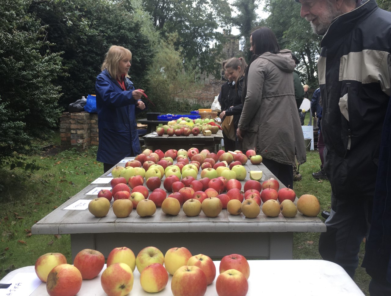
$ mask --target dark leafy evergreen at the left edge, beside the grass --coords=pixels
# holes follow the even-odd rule
[[[29,3],[0,1],[0,167],[32,153],[32,139],[48,139],[61,115],[61,88],[54,85],[61,58],[39,51],[49,44],[42,41],[44,28],[26,14]]]

